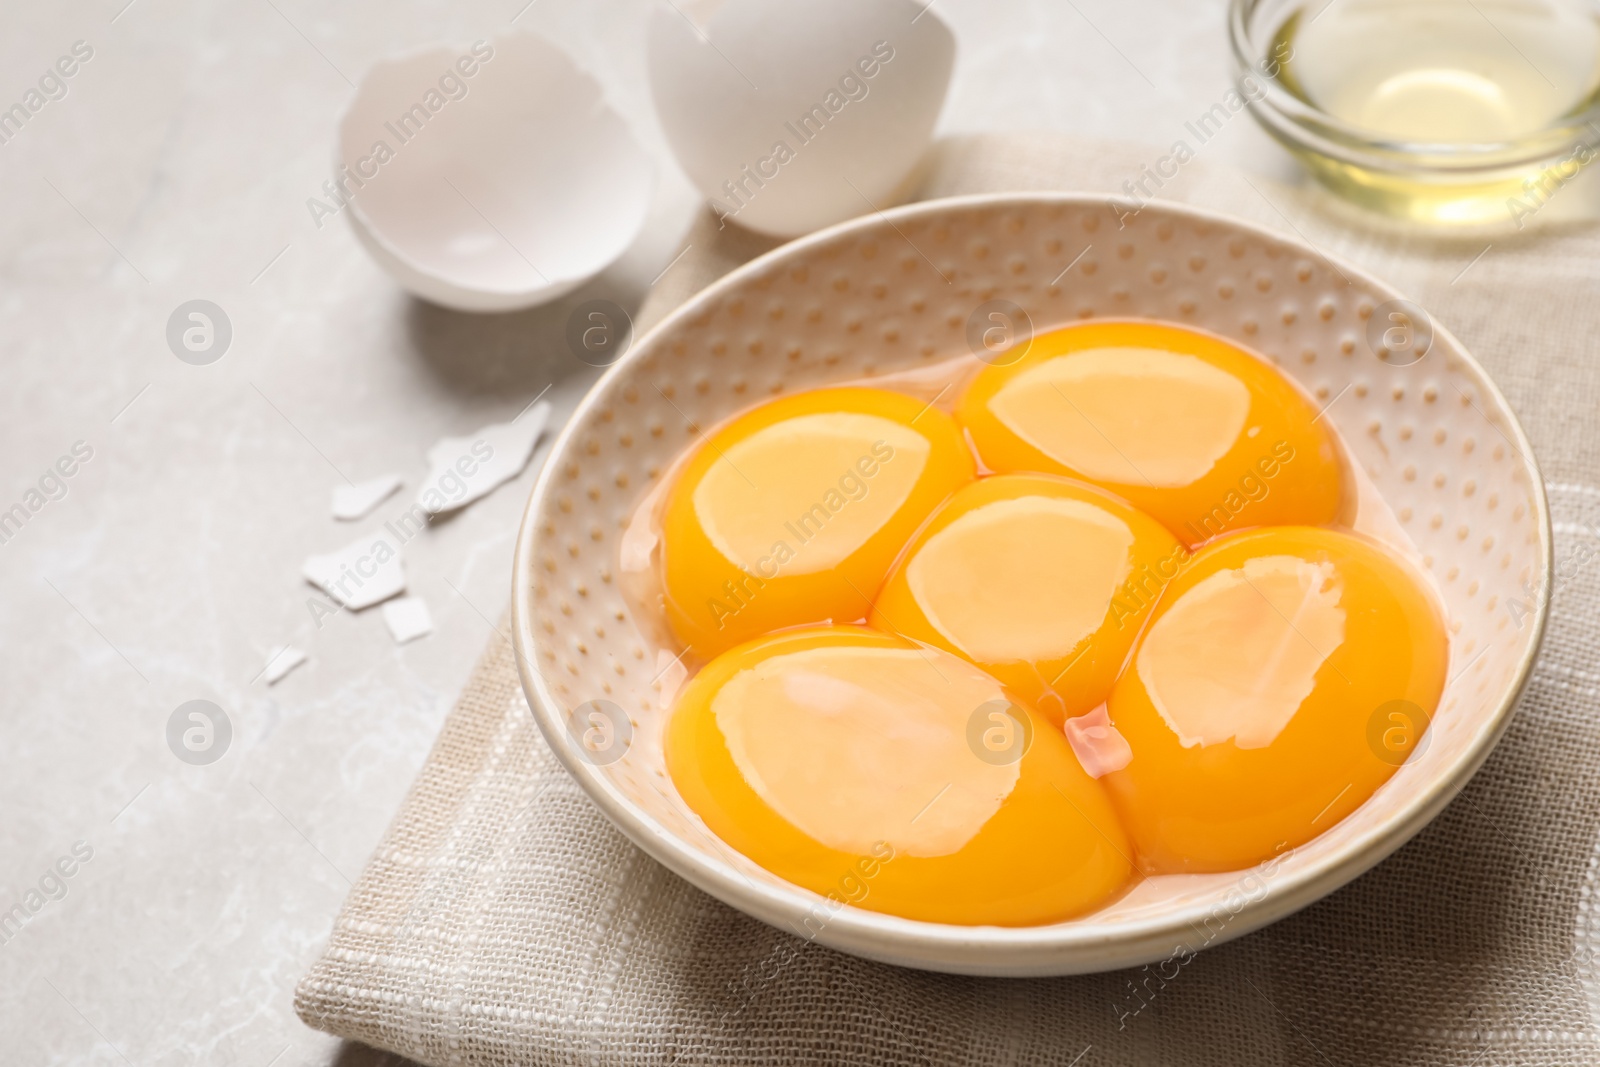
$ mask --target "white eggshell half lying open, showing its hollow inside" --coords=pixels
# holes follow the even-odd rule
[[[621,256],[654,173],[586,70],[512,32],[374,64],[339,123],[334,184],[395,282],[493,312],[557,299]]]

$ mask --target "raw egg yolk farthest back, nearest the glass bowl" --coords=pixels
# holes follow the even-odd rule
[[[1093,482],[1190,547],[1339,512],[1338,451],[1310,403],[1264,360],[1182,326],[1094,322],[1034,338],[973,379],[957,418],[990,470]]]

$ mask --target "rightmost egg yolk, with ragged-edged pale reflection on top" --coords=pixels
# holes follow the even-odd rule
[[[1197,552],[1107,702],[1131,757],[1101,781],[1144,870],[1238,870],[1355,811],[1403,761],[1390,710],[1426,729],[1446,657],[1421,577],[1365,537],[1288,526]]]

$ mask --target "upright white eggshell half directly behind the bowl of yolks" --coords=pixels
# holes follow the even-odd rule
[[[902,198],[928,150],[955,37],[914,0],[726,0],[650,22],[650,90],[712,210],[797,237]]]

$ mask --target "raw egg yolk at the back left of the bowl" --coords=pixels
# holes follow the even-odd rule
[[[896,553],[973,480],[954,419],[882,389],[818,389],[718,427],[662,517],[667,622],[696,659],[864,619]]]

